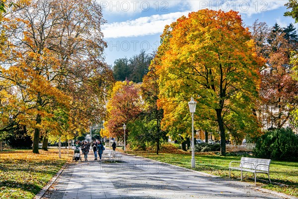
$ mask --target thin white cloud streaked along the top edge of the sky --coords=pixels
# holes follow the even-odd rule
[[[251,16],[285,6],[288,0],[98,0],[104,14],[133,16],[141,12],[170,12],[200,9],[235,10]],[[176,9],[176,11],[178,11]]]

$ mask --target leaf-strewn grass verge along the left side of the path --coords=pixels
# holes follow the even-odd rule
[[[0,198],[32,199],[70,159],[72,152],[11,150],[0,153]]]

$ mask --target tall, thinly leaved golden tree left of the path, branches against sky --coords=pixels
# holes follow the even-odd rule
[[[27,113],[35,115],[33,152],[38,153],[42,116],[53,114],[47,107],[71,107],[71,131],[86,129],[104,112],[112,81],[102,56],[104,20],[93,0],[33,0],[11,18],[20,28],[11,30],[14,62],[3,78],[18,87]]]

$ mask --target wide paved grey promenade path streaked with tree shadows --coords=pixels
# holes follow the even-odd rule
[[[122,163],[102,163],[93,161],[91,153],[88,156],[87,162],[69,164],[42,199],[283,199],[250,183],[135,156],[124,155]]]

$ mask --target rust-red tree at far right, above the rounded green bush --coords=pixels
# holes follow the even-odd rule
[[[274,30],[274,29],[273,29]],[[291,77],[290,51],[293,49],[284,37],[285,33],[271,34],[269,68],[262,73],[260,95],[265,109],[265,123],[271,128],[281,128],[289,122],[290,112],[297,104],[298,82]]]

